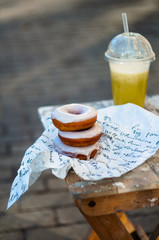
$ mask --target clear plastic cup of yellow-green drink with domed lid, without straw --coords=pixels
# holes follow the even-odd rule
[[[105,52],[109,62],[115,105],[134,103],[144,107],[150,63],[155,54],[138,33],[122,33],[112,39]]]

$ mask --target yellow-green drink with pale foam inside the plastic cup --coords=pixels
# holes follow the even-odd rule
[[[124,66],[121,66],[121,69],[112,67],[111,82],[114,104],[134,103],[144,107],[148,74],[149,67],[136,69],[136,67],[125,66],[125,73]]]

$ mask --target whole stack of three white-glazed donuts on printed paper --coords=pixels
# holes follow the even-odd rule
[[[96,109],[83,104],[68,104],[56,108],[51,118],[58,128],[54,141],[57,152],[82,160],[97,154],[102,130],[96,122]]]

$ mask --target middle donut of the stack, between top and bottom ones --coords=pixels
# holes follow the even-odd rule
[[[100,139],[102,129],[98,123],[95,123],[91,128],[85,130],[74,132],[59,131],[58,135],[61,141],[68,146],[86,147],[95,144]]]

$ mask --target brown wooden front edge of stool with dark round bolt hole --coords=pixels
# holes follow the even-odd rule
[[[90,216],[99,216],[114,212],[158,206],[159,190],[129,192],[78,201],[83,212]]]

